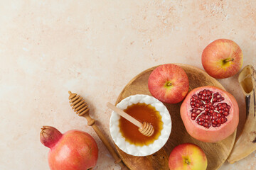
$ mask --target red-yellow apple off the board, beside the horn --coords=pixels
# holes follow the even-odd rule
[[[242,50],[233,40],[215,40],[203,50],[202,64],[211,77],[232,77],[242,67]]]

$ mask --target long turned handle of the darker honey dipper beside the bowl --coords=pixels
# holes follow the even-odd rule
[[[114,149],[112,148],[112,146],[110,145],[110,142],[108,142],[107,138],[105,137],[105,135],[103,135],[102,131],[97,127],[97,125],[95,124],[95,120],[92,119],[90,117],[89,114],[85,114],[83,115],[83,117],[85,117],[87,119],[87,124],[92,126],[92,128],[95,130],[95,132],[97,133],[98,137],[100,137],[100,140],[102,140],[102,142],[104,143],[104,145],[107,147],[108,151],[110,152],[110,154],[112,155],[112,157],[114,158],[114,163],[115,164],[119,164],[119,166],[121,166],[122,170],[128,170],[127,166],[124,165],[124,163],[122,162],[122,160],[119,158],[119,156],[117,155],[117,153],[114,151]]]

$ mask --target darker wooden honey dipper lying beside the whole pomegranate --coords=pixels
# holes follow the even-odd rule
[[[70,100],[70,106],[73,108],[73,110],[79,115],[87,119],[87,124],[92,126],[92,128],[95,130],[97,135],[100,137],[100,140],[104,143],[104,145],[109,150],[110,154],[112,154],[112,157],[114,157],[115,164],[119,164],[121,166],[121,169],[128,170],[127,166],[122,162],[122,159],[119,158],[118,154],[114,151],[112,146],[110,145],[110,142],[108,142],[105,135],[103,135],[102,131],[97,127],[96,121],[92,119],[89,115],[89,106],[85,102],[85,99],[80,97],[77,94],[72,94],[71,91],[68,91],[68,94],[70,96],[68,99]]]

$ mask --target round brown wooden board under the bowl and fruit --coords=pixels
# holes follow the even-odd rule
[[[208,85],[217,86],[220,89],[224,89],[224,87],[216,79],[210,77],[203,70],[186,64],[177,65],[182,67],[188,75],[189,91],[198,86]],[[119,94],[116,104],[122,101],[123,98],[127,98],[128,96],[134,94],[147,94],[151,96],[147,82],[149,79],[149,75],[155,68],[156,67],[146,69],[144,72],[137,75],[137,77],[134,77],[134,79],[129,81],[127,86],[124,87],[121,94]],[[169,113],[171,114],[172,121],[171,135],[169,137],[169,140],[166,142],[166,145],[164,145],[164,147],[155,154],[151,154],[147,157],[134,157],[132,155],[126,154],[125,152],[122,152],[122,150],[116,146],[117,152],[119,153],[123,162],[131,170],[169,169],[168,160],[169,154],[171,153],[172,149],[182,143],[191,142],[201,147],[206,153],[206,157],[208,159],[207,169],[218,169],[228,158],[228,155],[233,148],[236,131],[232,135],[230,135],[230,137],[220,142],[207,143],[198,141],[188,135],[188,133],[186,132],[179,112],[181,103],[164,103],[164,105],[166,106],[166,108],[168,108]]]

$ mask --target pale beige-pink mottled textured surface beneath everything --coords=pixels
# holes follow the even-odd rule
[[[203,68],[211,41],[240,45],[256,67],[256,1],[5,1],[0,0],[0,169],[48,169],[42,125],[89,132],[100,148],[95,169],[119,169],[95,132],[68,103],[68,90],[90,104],[110,138],[110,109],[139,72],[164,63]],[[240,106],[238,74],[220,80]],[[4,155],[4,156],[3,156]],[[221,170],[253,169],[256,152]]]

